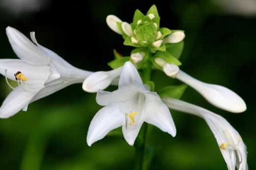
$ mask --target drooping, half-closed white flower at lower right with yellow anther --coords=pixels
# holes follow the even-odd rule
[[[166,105],[177,111],[191,113],[203,118],[218,142],[228,170],[248,170],[247,150],[239,133],[223,117],[187,102],[177,99],[163,99]]]

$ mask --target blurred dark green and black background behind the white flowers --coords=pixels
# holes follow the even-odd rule
[[[5,34],[13,26],[37,40],[76,67],[109,70],[112,50],[129,55],[131,47],[105,23],[108,14],[131,22],[134,11],[144,13],[156,4],[161,26],[185,30],[186,39],[180,67],[204,82],[224,85],[247,103],[241,114],[227,113],[209,105],[188,88],[183,100],[224,116],[239,131],[248,149],[250,170],[256,169],[255,87],[256,18],[226,14],[209,0],[91,0],[48,1],[41,11],[12,15],[0,9],[0,57],[16,58]],[[159,90],[173,82],[154,72]],[[0,101],[10,89],[0,79]],[[109,88],[113,90],[114,88]],[[108,136],[88,147],[87,129],[99,110],[95,94],[72,85],[29,105],[9,119],[0,120],[0,169],[6,170],[131,170],[134,147],[123,138]],[[148,142],[157,148],[151,170],[225,170],[218,144],[204,120],[172,111],[177,136],[156,127]]]

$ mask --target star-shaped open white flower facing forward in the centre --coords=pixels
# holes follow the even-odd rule
[[[104,107],[90,123],[87,134],[89,146],[120,126],[125,140],[133,145],[143,122],[155,125],[172,136],[176,135],[169,109],[156,93],[145,89],[131,62],[126,62],[122,68],[118,90],[98,91],[96,102]]]

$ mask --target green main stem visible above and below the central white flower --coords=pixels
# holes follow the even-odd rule
[[[144,68],[141,72],[141,77],[143,83],[149,82],[151,77],[151,65],[148,65],[147,68]],[[153,90],[153,89],[151,89]],[[144,124],[140,130],[140,138],[135,143],[135,167],[134,170],[143,170],[143,162],[145,158],[145,146],[147,138],[148,124]]]

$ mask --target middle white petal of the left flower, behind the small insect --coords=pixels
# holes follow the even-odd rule
[[[47,65],[30,65],[20,59],[0,59],[0,74],[5,75],[6,69],[7,77],[12,80],[15,80],[14,74],[20,71],[28,78],[25,83],[31,88],[43,87],[50,74]]]

